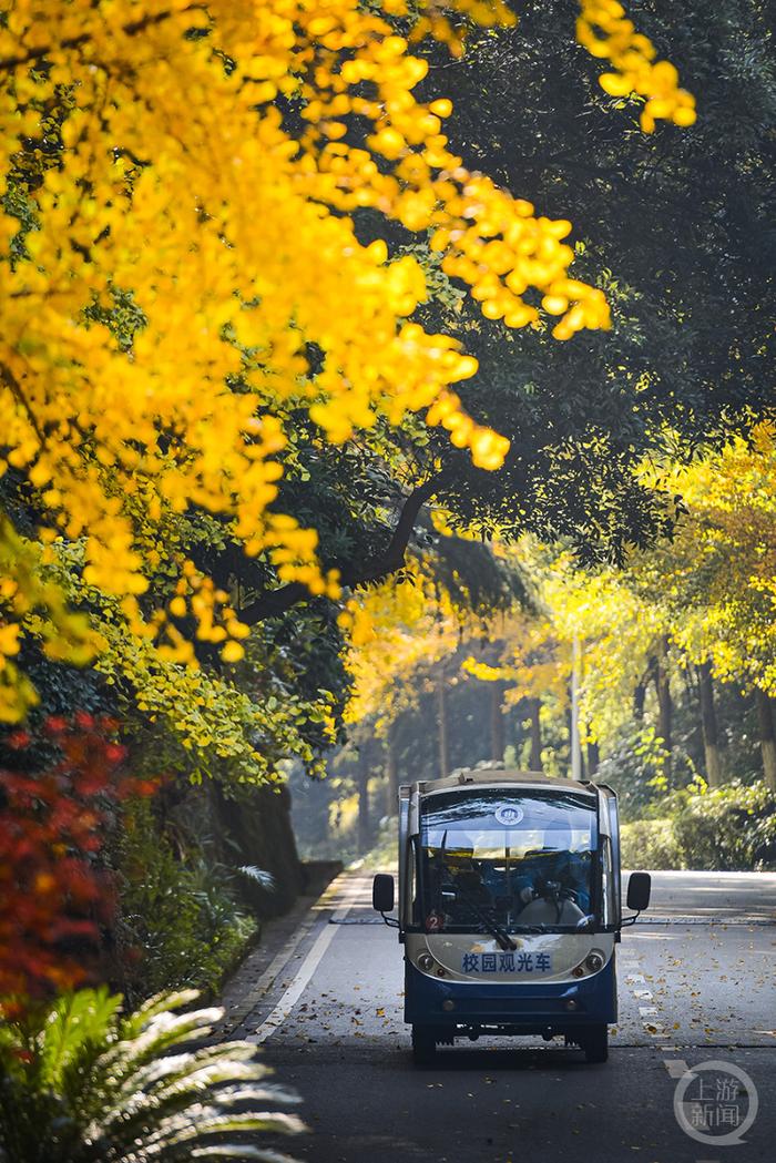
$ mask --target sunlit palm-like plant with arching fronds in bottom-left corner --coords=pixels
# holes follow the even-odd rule
[[[1,1163],[190,1163],[286,1156],[256,1143],[299,1119],[264,1110],[297,1096],[248,1042],[206,1044],[219,1008],[180,1011],[195,991],[130,1014],[107,990],[62,996],[0,1028]]]

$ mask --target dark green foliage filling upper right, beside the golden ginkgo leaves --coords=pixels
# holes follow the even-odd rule
[[[547,526],[570,529],[592,556],[660,523],[627,480],[634,457],[664,444],[669,428],[685,456],[728,424],[746,427],[747,401],[755,413],[773,404],[776,73],[773,20],[756,0],[688,0],[670,19],[660,5],[640,5],[643,29],[662,53],[670,43],[702,94],[691,129],[646,137],[638,109],[613,114],[621,102],[560,35],[574,7],[521,5],[514,31],[474,34],[446,74],[447,128],[487,172],[569,213],[578,269],[598,274],[612,302],[613,331],[579,344],[528,342],[499,323],[465,331],[480,376],[464,399],[514,437],[505,469],[484,483],[493,507],[503,490],[505,521],[544,538]],[[430,70],[425,84],[435,83]],[[629,119],[632,129],[614,131]],[[461,330],[470,320],[465,304]],[[472,491],[470,505],[482,500]]]

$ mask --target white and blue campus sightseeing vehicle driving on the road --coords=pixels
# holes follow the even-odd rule
[[[646,872],[627,906],[649,902]],[[399,792],[393,877],[372,904],[405,947],[415,1062],[480,1034],[556,1035],[605,1062],[621,918],[617,795],[603,784],[479,768]]]

